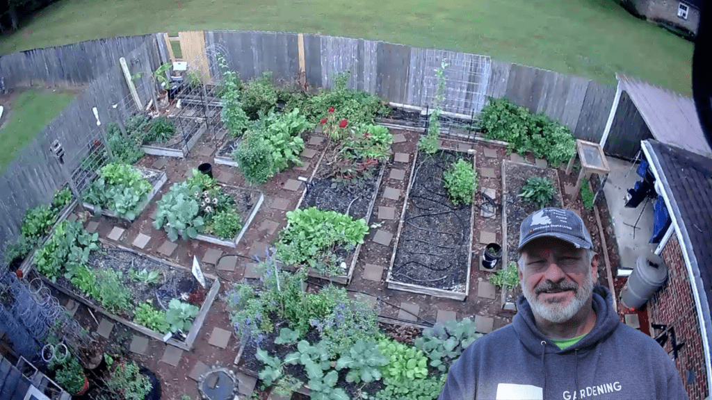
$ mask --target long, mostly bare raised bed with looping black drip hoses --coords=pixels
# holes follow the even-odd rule
[[[456,162],[458,153],[416,154],[388,268],[389,289],[466,299],[474,205],[454,206],[441,183],[444,170]],[[473,162],[471,155],[461,154]]]

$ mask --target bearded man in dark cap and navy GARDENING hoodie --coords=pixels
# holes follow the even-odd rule
[[[531,214],[518,253],[517,315],[462,353],[440,400],[687,399],[664,349],[620,322],[611,293],[593,284],[598,255],[579,216]]]

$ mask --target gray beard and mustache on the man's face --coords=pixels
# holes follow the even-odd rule
[[[537,288],[528,290],[524,282],[522,282],[522,292],[535,315],[550,322],[562,323],[574,317],[591,298],[593,293],[593,279],[591,278],[591,274],[587,273],[581,286],[573,282],[562,283],[562,285],[567,285],[567,288],[574,288],[575,286],[574,298],[568,305],[562,305],[560,302],[540,302],[538,300],[536,294],[537,289],[550,286],[547,283],[540,283]]]

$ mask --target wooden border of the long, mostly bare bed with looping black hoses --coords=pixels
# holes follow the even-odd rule
[[[459,152],[459,153],[465,153],[468,155],[472,156],[472,167],[477,170],[477,155],[470,153],[470,152],[462,152],[458,149],[451,149],[449,147],[441,147],[440,151],[451,151],[451,152]],[[388,266],[388,274],[386,275],[386,283],[388,285],[389,289],[394,289],[394,290],[403,290],[404,292],[410,292],[410,293],[418,293],[422,295],[431,295],[435,296],[438,298],[449,298],[453,300],[460,300],[460,301],[465,301],[467,299],[468,294],[470,293],[470,273],[471,273],[471,268],[472,268],[472,238],[473,238],[473,226],[475,223],[475,202],[472,202],[472,206],[470,209],[470,229],[469,229],[469,235],[470,235],[470,246],[468,247],[468,253],[469,257],[467,260],[467,274],[466,274],[466,282],[465,282],[465,291],[464,293],[462,292],[455,292],[453,290],[444,290],[444,289],[436,289],[436,288],[428,288],[426,286],[422,285],[416,285],[414,283],[403,283],[399,282],[397,280],[394,280],[392,278],[392,270],[393,270],[393,264],[395,263],[396,260],[396,253],[398,251],[398,244],[400,243],[400,236],[403,230],[403,221],[405,219],[405,213],[406,209],[408,207],[408,199],[410,197],[410,189],[413,186],[413,176],[415,172],[415,166],[418,163],[418,154],[419,151],[415,152],[415,155],[413,157],[413,165],[411,166],[410,169],[410,179],[408,182],[408,189],[405,194],[405,201],[403,202],[403,209],[401,211],[401,216],[398,222],[398,232],[396,233],[396,243],[393,246],[393,251],[391,253],[391,262],[390,265]]]

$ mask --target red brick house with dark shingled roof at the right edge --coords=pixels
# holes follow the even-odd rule
[[[669,224],[655,252],[668,278],[647,303],[649,332],[674,359],[690,399],[711,398],[712,159],[655,140],[642,149]]]

